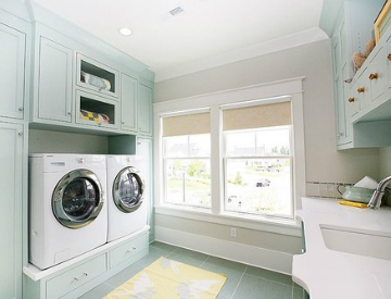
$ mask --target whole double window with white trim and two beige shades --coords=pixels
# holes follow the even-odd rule
[[[156,213],[293,232],[305,196],[302,82],[155,103]]]

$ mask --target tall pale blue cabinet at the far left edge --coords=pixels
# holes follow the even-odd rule
[[[27,263],[27,123],[30,26],[0,9],[0,298],[23,292]]]

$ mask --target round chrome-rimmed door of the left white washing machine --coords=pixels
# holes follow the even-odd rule
[[[91,223],[102,209],[102,187],[98,177],[88,170],[76,170],[65,175],[53,192],[53,213],[70,228]]]

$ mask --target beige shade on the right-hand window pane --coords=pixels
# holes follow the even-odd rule
[[[223,130],[286,126],[291,124],[290,101],[223,110]]]

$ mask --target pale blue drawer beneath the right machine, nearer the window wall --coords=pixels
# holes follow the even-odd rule
[[[112,269],[144,250],[148,246],[147,238],[148,234],[143,234],[110,251],[110,267]]]

